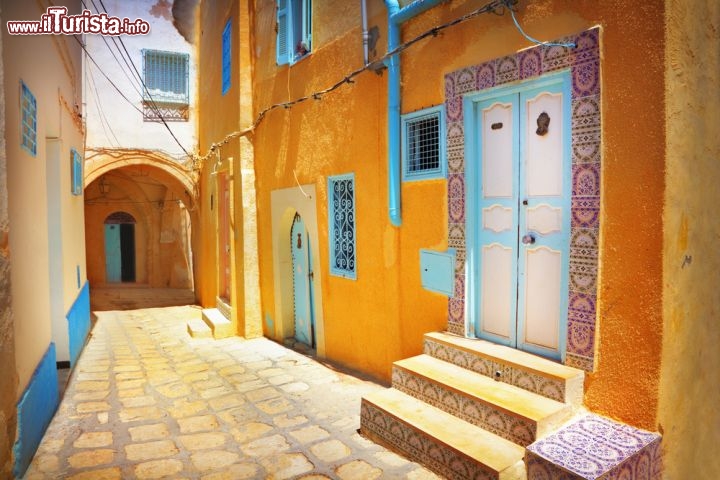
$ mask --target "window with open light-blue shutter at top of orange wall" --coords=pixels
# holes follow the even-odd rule
[[[293,64],[312,50],[312,1],[277,0],[277,63]]]

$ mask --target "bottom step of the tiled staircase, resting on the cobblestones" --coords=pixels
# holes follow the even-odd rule
[[[360,432],[446,478],[526,478],[522,447],[395,389],[362,399]]]

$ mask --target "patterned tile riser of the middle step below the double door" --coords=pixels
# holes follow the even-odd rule
[[[535,422],[496,410],[491,405],[397,366],[392,370],[392,385],[401,392],[523,447],[537,438]]]

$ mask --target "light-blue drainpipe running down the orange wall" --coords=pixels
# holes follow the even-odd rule
[[[400,8],[398,0],[385,0],[388,11],[388,52],[400,45],[400,25],[443,0],[415,0]],[[396,227],[400,215],[400,55],[386,61],[388,67],[388,212]]]

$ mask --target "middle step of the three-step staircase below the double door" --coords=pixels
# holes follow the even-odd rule
[[[429,355],[395,362],[392,386],[523,447],[572,416],[570,405]]]

